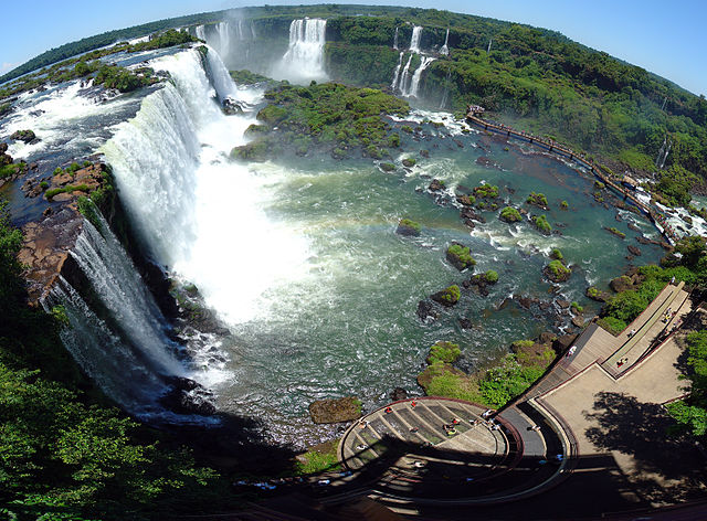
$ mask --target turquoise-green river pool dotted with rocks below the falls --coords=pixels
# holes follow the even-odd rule
[[[255,318],[233,327],[235,340],[226,347],[233,378],[218,390],[222,407],[262,418],[276,439],[313,443],[331,428],[310,424],[312,401],[358,395],[363,408],[370,410],[386,402],[395,386],[420,393],[415,376],[437,340],[460,343],[458,365],[472,371],[505,352],[514,340],[557,330],[555,319],[534,317],[516,305],[497,311],[509,296],[577,300],[591,316],[597,305],[583,297],[585,288],[604,287],[629,266],[626,245],[639,245],[627,221],[653,233],[629,212],[620,212],[618,221],[616,210],[594,202],[591,178],[551,158],[516,148],[505,151],[505,143],[475,132],[457,136],[464,146],[460,148],[443,137],[444,129],[428,131],[435,136],[408,139],[403,149],[410,153],[395,158],[398,164],[402,157],[418,158],[409,172],[399,168],[383,173],[369,160],[328,158],[250,167],[264,187],[267,217],[306,242],[307,258],[296,275],[261,296]],[[430,158],[421,158],[420,149],[430,150]],[[479,156],[502,170],[477,164]],[[487,223],[471,232],[458,209],[437,205],[425,192],[430,178],[444,180],[450,191],[457,184],[497,184],[500,196],[516,206],[531,191],[544,192],[550,210],[529,211],[546,214],[562,235],[544,236],[528,223],[508,225],[498,221],[498,211],[484,212]],[[559,209],[562,200],[570,203],[569,211]],[[420,237],[394,233],[403,216],[422,224]],[[602,226],[618,227],[626,240]],[[456,307],[423,323],[415,315],[418,301],[471,275],[445,262],[452,241],[471,247],[477,260],[474,273],[495,269],[500,280],[487,297],[465,291]],[[557,296],[549,293],[551,285],[541,274],[552,247],[578,265]],[[662,255],[654,246],[640,247],[642,264]],[[254,254],[287,258],[277,243]],[[472,328],[462,329],[460,318],[471,320]]]

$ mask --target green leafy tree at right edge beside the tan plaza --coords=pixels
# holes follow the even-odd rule
[[[690,382],[689,396],[667,405],[677,421],[679,430],[705,440],[707,435],[707,331],[694,331],[686,338],[686,379]]]

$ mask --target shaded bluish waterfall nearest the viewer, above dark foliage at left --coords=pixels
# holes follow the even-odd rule
[[[62,340],[82,369],[127,411],[155,419],[169,416],[157,403],[167,391],[161,376],[191,375],[168,323],[125,249],[99,212],[99,230],[88,221],[71,252],[91,285],[99,318],[66,279],[60,278],[46,304],[61,304],[71,327]]]

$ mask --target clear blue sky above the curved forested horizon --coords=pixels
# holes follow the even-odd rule
[[[2,0],[0,74],[42,52],[113,29],[247,6],[367,3],[444,9],[559,31],[707,95],[707,1],[673,0]]]

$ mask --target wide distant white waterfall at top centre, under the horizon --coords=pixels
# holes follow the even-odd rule
[[[324,71],[326,28],[326,20],[309,18],[293,20],[289,24],[289,46],[274,74],[295,83],[326,79],[327,75]]]

